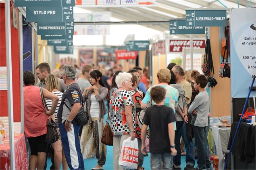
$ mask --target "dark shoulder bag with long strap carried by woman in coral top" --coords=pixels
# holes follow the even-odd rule
[[[43,101],[44,110],[47,115],[48,107],[44,100],[44,94],[43,94],[42,87],[40,87],[40,94],[41,94],[41,98]],[[46,134],[45,142],[48,144],[53,144],[54,142],[60,140],[60,134],[58,132],[58,125],[55,123],[55,121],[52,120],[52,118],[50,116],[47,115],[47,118],[48,118],[47,123],[46,123],[47,134]]]

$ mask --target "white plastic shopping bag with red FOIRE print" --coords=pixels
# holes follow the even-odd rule
[[[131,141],[131,137],[123,141],[119,156],[119,165],[125,169],[136,169],[139,158],[138,140]]]

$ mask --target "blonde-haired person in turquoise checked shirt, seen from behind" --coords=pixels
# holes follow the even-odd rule
[[[178,99],[179,99],[179,92],[177,89],[175,89],[174,87],[171,87],[168,85],[168,83],[171,80],[171,72],[169,69],[160,69],[157,73],[156,73],[156,77],[158,79],[158,84],[162,87],[164,87],[164,89],[166,90],[166,98],[164,100],[164,105],[171,107],[175,113],[175,107],[177,107],[178,105]],[[154,85],[156,86],[156,85]],[[152,86],[152,87],[154,87]],[[146,93],[146,96],[144,97],[144,99],[142,100],[141,103],[141,108],[145,109],[147,107],[148,102],[150,101],[150,87]],[[152,101],[152,105],[156,104],[154,101]],[[176,124],[173,123],[174,125],[174,130],[176,130]]]

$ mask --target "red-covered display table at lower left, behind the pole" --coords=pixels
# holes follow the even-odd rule
[[[15,170],[27,170],[27,150],[25,135],[14,136],[15,145]],[[4,139],[4,144],[0,145],[0,169],[10,170],[10,143],[9,138]]]

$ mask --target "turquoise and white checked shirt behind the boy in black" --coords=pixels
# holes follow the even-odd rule
[[[174,87],[169,86],[169,85],[159,85],[159,86],[164,87],[164,89],[166,90],[166,98],[164,100],[164,105],[166,105],[167,107],[171,107],[173,109],[174,114],[175,114],[175,107],[177,107],[178,100],[179,100],[178,90],[175,89]],[[150,87],[148,89],[148,91],[146,93],[146,96],[142,100],[143,103],[147,104],[148,101],[150,100],[150,90],[151,89],[152,89],[152,87]],[[156,103],[152,100],[152,105],[154,105],[154,104],[156,104]],[[173,126],[174,126],[174,130],[176,130],[176,123],[173,123]]]

